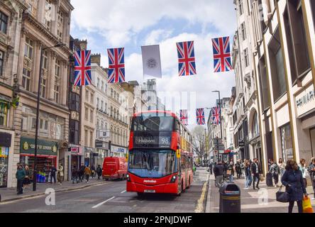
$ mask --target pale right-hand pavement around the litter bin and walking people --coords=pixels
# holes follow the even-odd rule
[[[243,189],[244,179],[234,179],[234,183],[241,189],[241,213],[287,213],[288,204],[280,203],[276,200],[276,192],[279,187],[267,187],[264,182],[260,182],[260,190]],[[209,175],[209,189],[206,201],[206,213],[219,213],[219,188],[214,185],[214,175]],[[306,191],[311,198],[314,196],[312,187],[307,187]],[[315,211],[315,200],[311,200]],[[294,213],[297,213],[297,205],[294,205]]]

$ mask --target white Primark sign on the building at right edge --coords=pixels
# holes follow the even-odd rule
[[[296,97],[297,114],[301,116],[315,108],[315,90],[313,85]]]

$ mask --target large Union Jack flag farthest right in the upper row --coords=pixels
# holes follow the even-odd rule
[[[231,64],[230,38],[212,39],[214,46],[214,72],[228,72],[233,70]]]

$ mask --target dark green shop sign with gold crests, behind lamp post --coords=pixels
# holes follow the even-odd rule
[[[38,155],[57,156],[58,144],[48,140],[38,140]],[[35,140],[31,138],[21,138],[21,154],[35,154]]]

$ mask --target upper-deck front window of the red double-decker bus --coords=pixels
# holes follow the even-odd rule
[[[142,114],[133,118],[133,131],[172,131],[174,118],[165,114]]]

